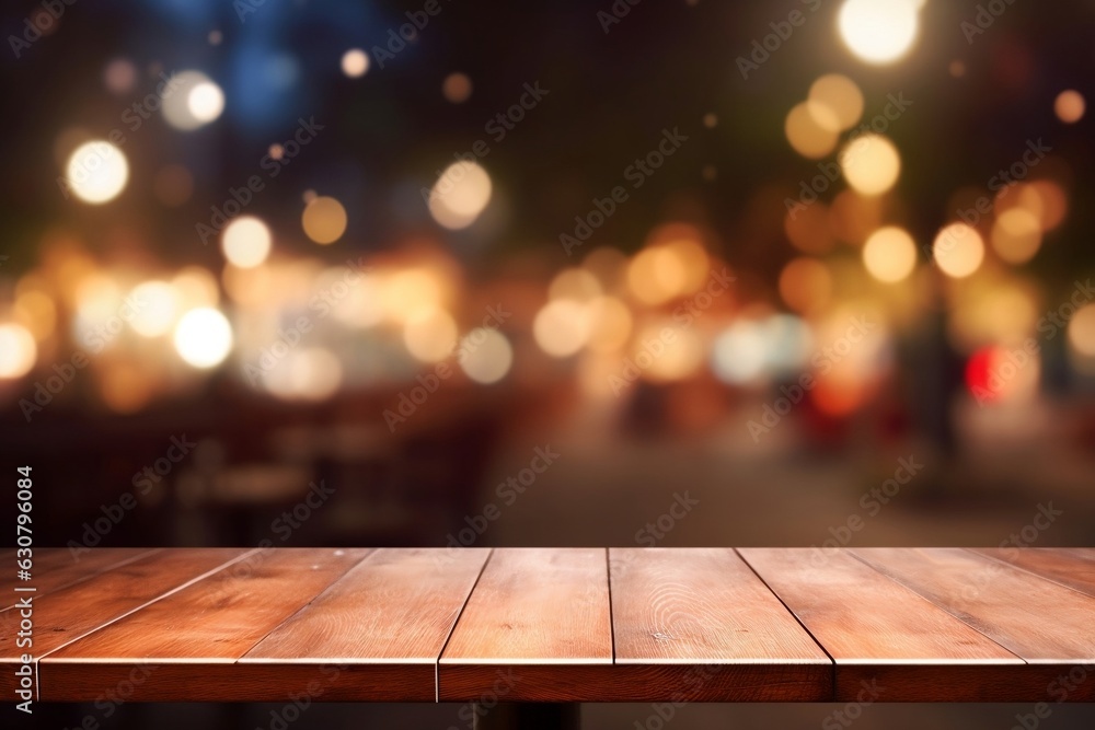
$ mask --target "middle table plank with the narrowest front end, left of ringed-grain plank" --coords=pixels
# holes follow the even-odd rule
[[[611,685],[609,606],[604,548],[497,548],[441,654],[440,700],[600,696]]]

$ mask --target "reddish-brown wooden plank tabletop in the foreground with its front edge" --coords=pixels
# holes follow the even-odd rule
[[[31,652],[46,702],[1095,700],[1090,548],[56,548],[0,583],[0,688]]]

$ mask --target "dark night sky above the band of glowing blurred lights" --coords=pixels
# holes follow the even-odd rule
[[[967,43],[959,24],[975,16],[976,4],[930,1],[913,51],[894,66],[869,67],[840,43],[835,2],[701,0],[690,7],[647,0],[606,34],[596,13],[608,10],[608,1],[442,1],[441,12],[384,68],[374,59],[364,78],[347,79],[338,70],[342,53],[358,46],[376,55],[389,28],[420,3],[267,0],[241,23],[227,1],[77,2],[18,61],[4,50],[0,206],[8,247],[23,268],[50,225],[80,228],[95,247],[107,245],[106,232],[125,218],[155,241],[164,259],[211,262],[216,252],[195,243],[194,222],[257,171],[266,148],[291,134],[298,117],[314,116],[325,130],[270,181],[258,212],[288,222],[302,192],[316,189],[346,201],[347,240],[358,247],[392,247],[412,232],[447,235],[474,267],[500,254],[557,246],[574,216],[620,184],[623,170],[653,149],[661,129],[679,127],[689,141],[633,192],[625,213],[600,229],[597,242],[634,250],[655,223],[691,217],[712,225],[729,260],[768,270],[785,260],[789,244],[754,235],[745,220],[756,212],[759,190],[794,194],[798,181],[814,174],[816,163],[787,146],[783,118],[815,78],[835,71],[863,89],[866,116],[880,111],[888,93],[913,101],[887,134],[902,150],[897,192],[903,222],[921,236],[945,222],[955,189],[983,186],[1027,139],[1045,138],[1071,167],[1074,205],[1067,228],[1050,239],[1069,245],[1048,245],[1033,266],[1049,278],[1068,276],[1090,263],[1082,242],[1093,220],[1082,201],[1091,185],[1082,174],[1092,163],[1092,126],[1091,115],[1062,125],[1052,100],[1065,88],[1095,97],[1095,5],[1016,2]],[[37,8],[9,3],[5,34],[21,33],[23,19]],[[796,9],[806,22],[744,80],[736,59],[771,32],[770,23]],[[207,39],[214,30],[223,34],[217,46]],[[136,184],[119,205],[89,209],[58,194],[53,144],[68,127],[105,134],[120,126],[125,107],[154,88],[154,78],[146,77],[131,97],[107,92],[103,68],[119,57],[145,69],[198,68],[223,86],[228,106],[217,124],[195,132],[174,131],[153,117],[128,135]],[[954,60],[966,67],[961,78],[948,70]],[[295,63],[296,78],[267,89],[256,81],[258,70],[276,62]],[[441,81],[452,71],[474,83],[464,104],[441,96]],[[537,81],[549,95],[495,143],[484,125],[520,97],[523,83]],[[706,113],[718,117],[714,129],[702,124]],[[483,225],[446,233],[430,221],[417,190],[480,139],[491,147],[482,162],[499,205]],[[147,183],[169,162],[194,172],[195,194],[182,208],[164,209]],[[717,169],[715,181],[704,181],[705,165]],[[782,206],[773,209],[773,219],[782,212]]]

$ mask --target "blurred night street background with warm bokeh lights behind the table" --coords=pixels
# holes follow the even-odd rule
[[[0,424],[36,544],[1091,545],[1093,22],[5,3]],[[389,709],[300,727],[460,723]],[[101,720],[164,712],[269,717]]]

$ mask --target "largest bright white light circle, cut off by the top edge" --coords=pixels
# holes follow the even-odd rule
[[[917,39],[920,18],[912,0],[845,0],[837,20],[844,45],[868,63],[892,63]]]

